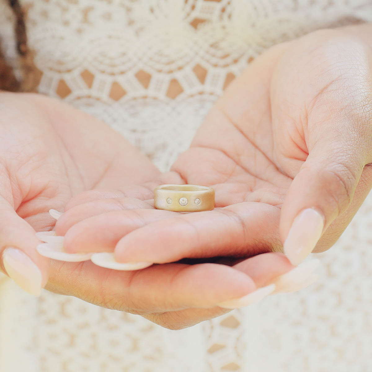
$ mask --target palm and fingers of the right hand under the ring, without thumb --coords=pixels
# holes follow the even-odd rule
[[[249,257],[281,250],[280,206],[292,178],[279,169],[275,158],[270,83],[283,48],[260,57],[231,84],[190,148],[171,167],[172,173],[182,177],[180,183],[215,189],[213,211],[180,214],[146,210],[153,209],[150,189],[141,198],[148,199],[148,204],[139,205],[137,211],[123,211],[124,222],[115,226],[118,213],[109,211],[116,210],[117,203],[106,203],[103,215],[102,202],[92,202],[97,193],[84,193],[68,203],[68,212],[57,223],[58,234],[65,235],[66,250],[110,251],[119,244],[115,251],[118,260],[155,263],[186,257]],[[163,183],[174,182],[163,177]],[[137,195],[126,191],[123,196]],[[126,221],[137,224],[130,222],[129,227]],[[102,241],[99,232],[108,229],[111,240]]]

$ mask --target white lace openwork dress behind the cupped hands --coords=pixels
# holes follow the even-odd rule
[[[39,92],[102,119],[166,170],[225,86],[262,51],[372,20],[362,0],[35,0]],[[14,57],[11,13],[0,35]],[[0,371],[372,371],[372,195],[318,283],[171,331],[0,278]]]

